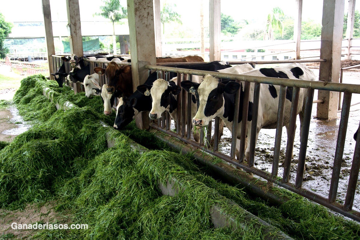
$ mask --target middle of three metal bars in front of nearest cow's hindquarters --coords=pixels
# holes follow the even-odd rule
[[[295,130],[296,130],[296,116],[297,116],[297,106],[299,103],[299,93],[300,88],[293,87],[293,95],[292,95],[292,104],[291,104],[291,112],[290,112],[290,122],[288,129],[288,141],[286,144],[286,153],[284,160],[284,174],[283,174],[283,182],[288,182],[290,177],[290,164],[291,157],[294,149],[294,138],[295,138]]]

